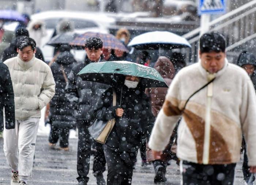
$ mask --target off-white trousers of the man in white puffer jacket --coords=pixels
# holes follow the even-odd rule
[[[12,170],[27,181],[32,173],[39,118],[15,120],[15,129],[4,127],[4,153]]]

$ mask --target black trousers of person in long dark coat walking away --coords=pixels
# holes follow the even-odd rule
[[[53,125],[51,125],[51,131],[49,136],[50,143],[57,143],[60,139],[60,147],[68,147],[68,137],[69,137],[69,129],[59,129]]]

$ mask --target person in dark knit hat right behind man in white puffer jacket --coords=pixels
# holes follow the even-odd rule
[[[16,46],[17,41],[20,37],[23,37],[23,36],[29,37],[29,31],[27,31],[27,29],[23,28],[23,27],[17,29],[16,32],[15,32],[15,38],[12,40],[10,46],[7,47],[3,52],[3,56],[2,56],[2,59],[1,59],[2,62],[18,55],[17,46]],[[35,58],[38,58],[38,59],[45,62],[42,51],[38,47],[36,48]]]

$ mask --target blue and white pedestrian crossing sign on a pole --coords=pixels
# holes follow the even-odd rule
[[[225,0],[199,0],[198,13],[202,15],[204,13],[215,14],[225,13],[226,3]]]

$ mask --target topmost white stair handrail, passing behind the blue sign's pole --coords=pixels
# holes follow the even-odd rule
[[[234,9],[233,11],[230,11],[230,12],[226,13],[225,15],[223,15],[223,16],[221,16],[221,17],[218,17],[217,19],[211,21],[211,22],[209,23],[209,26],[212,26],[212,25],[214,25],[214,24],[216,24],[216,23],[218,23],[218,22],[221,22],[221,21],[223,21],[223,20],[225,20],[225,19],[227,19],[227,18],[229,18],[229,17],[231,17],[231,16],[233,16],[233,15],[236,15],[237,13],[239,13],[239,12],[241,12],[241,11],[243,11],[243,10],[245,10],[245,9],[251,7],[252,5],[255,5],[255,4],[256,4],[256,0],[252,0],[252,1],[250,1],[250,2],[248,2],[248,3],[246,3],[246,4],[244,4],[244,5],[242,5],[241,7],[237,8],[237,9]],[[189,39],[189,38],[191,38],[193,35],[199,34],[199,33],[200,33],[200,30],[201,30],[200,27],[199,27],[199,28],[196,28],[196,29],[194,29],[193,31],[191,31],[191,32],[189,32],[189,33],[183,35],[183,37],[186,38],[186,39]]]

